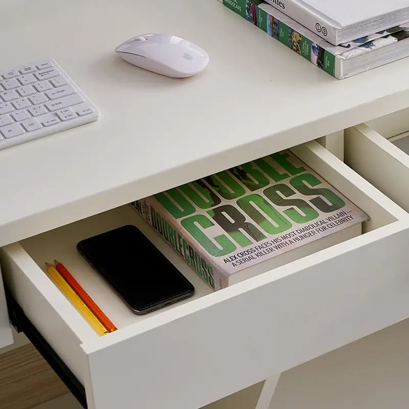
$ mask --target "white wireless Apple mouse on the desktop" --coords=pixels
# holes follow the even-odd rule
[[[206,51],[171,34],[142,34],[123,42],[115,51],[133,65],[173,78],[198,74],[209,62]]]

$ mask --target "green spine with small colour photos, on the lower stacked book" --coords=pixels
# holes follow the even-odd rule
[[[295,51],[297,54],[324,70],[326,73],[333,77],[336,76],[337,59],[335,55],[258,7],[264,2],[259,0],[219,1],[237,14],[240,14],[246,20],[251,21],[269,36],[279,40],[292,51]]]

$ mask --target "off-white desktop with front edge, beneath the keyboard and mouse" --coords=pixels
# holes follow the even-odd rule
[[[2,64],[55,58],[101,118],[0,151],[0,245],[409,105],[409,59],[338,81],[216,0],[14,0],[2,15]],[[113,52],[147,32],[197,43],[208,69],[171,79]]]

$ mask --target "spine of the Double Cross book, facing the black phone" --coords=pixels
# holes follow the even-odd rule
[[[130,204],[211,288],[219,290],[229,285],[220,268],[209,262],[206,255],[186,239],[178,225],[172,223],[171,218],[157,206],[154,198],[147,197]]]

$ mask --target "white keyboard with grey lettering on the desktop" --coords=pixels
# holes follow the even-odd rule
[[[95,121],[99,115],[52,58],[0,70],[0,149]]]

